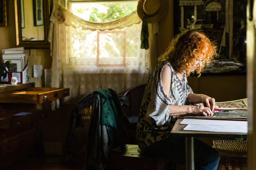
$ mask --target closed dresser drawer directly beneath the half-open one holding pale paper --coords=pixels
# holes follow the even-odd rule
[[[26,124],[14,129],[0,129],[0,145],[18,138],[22,135],[35,131],[35,123]]]

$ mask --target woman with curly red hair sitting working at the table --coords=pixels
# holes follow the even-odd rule
[[[142,152],[185,164],[185,138],[170,135],[181,115],[213,115],[214,98],[194,94],[187,76],[200,71],[216,56],[216,45],[205,34],[185,30],[177,35],[158,58],[144,92],[137,125],[137,142]],[[217,150],[194,139],[195,169],[217,169]]]

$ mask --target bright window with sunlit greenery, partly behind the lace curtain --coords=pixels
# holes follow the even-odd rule
[[[137,9],[137,1],[95,2],[68,1],[70,11],[83,20],[93,23],[110,23],[121,19]],[[132,67],[139,58],[141,26],[134,24],[122,29],[93,31],[85,34],[76,30],[70,35],[70,56],[75,62],[86,59],[88,67],[128,66]],[[74,33],[74,34],[73,34]],[[96,65],[95,65],[96,63]]]

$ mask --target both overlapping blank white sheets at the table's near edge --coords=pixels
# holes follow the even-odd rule
[[[247,121],[184,119],[180,124],[187,125],[184,130],[238,133],[247,133],[248,131]]]

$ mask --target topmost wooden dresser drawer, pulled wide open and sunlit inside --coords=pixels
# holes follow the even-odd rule
[[[69,96],[69,88],[30,87],[0,93],[0,103],[45,103]]]

